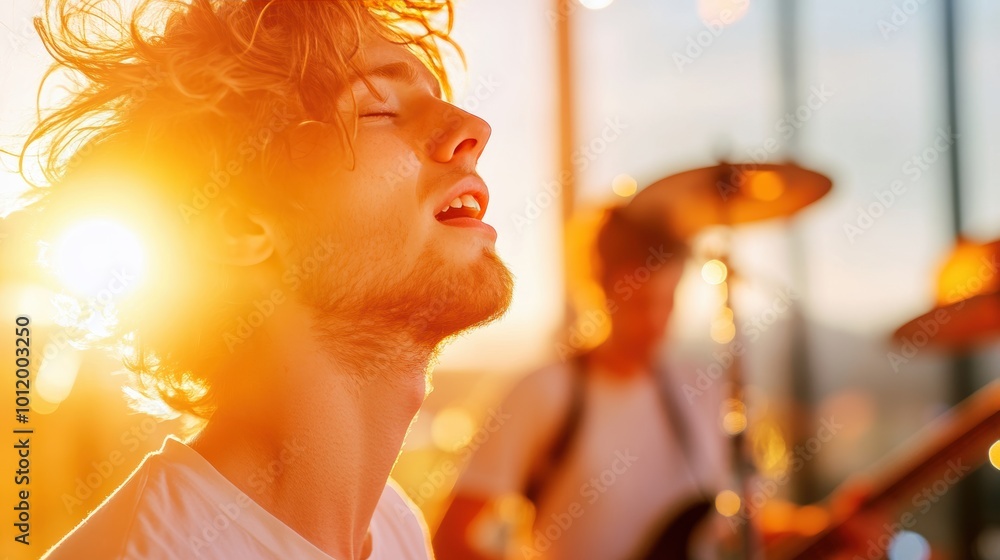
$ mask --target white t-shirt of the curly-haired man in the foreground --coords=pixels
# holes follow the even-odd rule
[[[390,480],[368,560],[433,558],[427,528]],[[333,560],[172,437],[44,560]]]

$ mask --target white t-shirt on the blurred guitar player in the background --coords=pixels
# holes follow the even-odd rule
[[[534,375],[575,375],[567,369],[553,366]],[[500,495],[511,490],[509,473],[523,472],[524,465],[510,461],[523,462],[520,442],[537,429],[530,420],[537,414],[532,407],[544,406],[516,393],[530,391],[535,381],[527,379],[505,401],[503,411],[512,420],[482,447],[489,457],[474,458],[463,473],[461,491]],[[671,383],[679,387],[676,379]],[[686,419],[699,451],[688,456],[652,376],[622,378],[592,370],[585,384],[577,433],[542,489],[531,542],[519,547],[519,558],[624,560],[655,537],[657,526],[680,508],[706,494],[714,497],[724,476],[726,442],[713,418],[718,407],[710,397],[696,403],[686,402],[683,395],[676,399],[678,414]]]

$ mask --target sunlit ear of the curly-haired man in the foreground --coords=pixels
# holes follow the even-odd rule
[[[217,209],[206,218],[203,239],[207,242],[202,247],[210,260],[231,266],[253,266],[274,254],[274,223],[264,213],[219,201]]]

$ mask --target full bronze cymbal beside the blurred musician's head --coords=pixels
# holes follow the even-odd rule
[[[826,176],[793,164],[722,163],[649,185],[626,211],[688,238],[708,226],[792,216],[830,192]]]

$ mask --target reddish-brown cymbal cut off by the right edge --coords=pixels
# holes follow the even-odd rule
[[[982,294],[942,305],[899,327],[893,338],[919,350],[925,346],[961,349],[1000,336],[1000,293]]]

